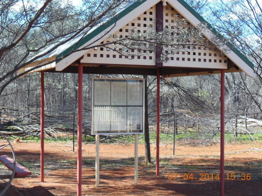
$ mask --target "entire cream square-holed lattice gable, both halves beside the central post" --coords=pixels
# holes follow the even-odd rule
[[[185,20],[178,11],[172,8],[169,4],[163,7],[163,27],[171,28],[176,30],[178,27],[175,24],[175,19],[179,18],[180,20]],[[113,36],[110,36],[101,44],[110,43],[116,41],[114,36],[117,37],[127,37],[130,33],[146,33],[147,27],[153,26],[154,21],[156,20],[156,6],[153,6],[149,10],[145,11],[143,14],[134,18],[126,26],[119,28]],[[173,35],[176,39],[176,34]],[[105,65],[155,65],[155,52],[145,50],[143,53],[140,53],[139,56],[137,51],[132,50],[131,55],[122,55],[119,54],[117,50],[122,50],[125,53],[127,50],[123,45],[112,45],[110,44],[108,48],[106,47],[96,47],[89,50],[84,58],[81,60],[81,63],[87,64],[105,64]],[[148,48],[148,47],[147,47]],[[134,55],[132,55],[134,52]],[[130,54],[130,51],[128,51]],[[163,49],[165,53],[165,48]],[[175,51],[174,54],[167,55],[168,62],[163,63],[163,66],[168,67],[194,67],[194,68],[227,68],[227,57],[221,55],[221,51],[214,51],[210,48],[202,46],[194,47],[185,47],[179,51]]]

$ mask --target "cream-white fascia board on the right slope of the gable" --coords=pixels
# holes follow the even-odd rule
[[[168,3],[179,13],[183,15],[185,19],[187,19],[190,24],[192,24],[194,27],[197,28],[199,24],[202,24],[200,20],[198,20],[190,11],[188,11],[181,3],[179,3],[177,0],[170,0]],[[201,31],[204,36],[210,40],[212,36],[214,35],[208,28],[206,28],[204,31]],[[245,72],[248,76],[253,77],[254,76],[254,70],[249,67],[236,53],[234,53],[230,48],[228,48],[226,45],[223,47],[218,47],[221,51],[226,49],[227,51],[230,51],[229,53],[224,53],[234,64],[236,64],[243,72]]]

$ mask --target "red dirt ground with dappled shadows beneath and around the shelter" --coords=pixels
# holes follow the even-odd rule
[[[21,194],[76,195],[77,153],[72,152],[72,143],[45,144],[45,182],[42,183],[39,175],[40,143],[12,145],[18,162],[33,173],[24,179],[13,180],[12,185]],[[262,150],[259,149],[262,149],[262,142],[225,146],[225,173],[230,175],[229,180],[225,176],[226,196],[262,195]],[[219,145],[178,145],[175,156],[172,155],[172,145],[161,146],[159,177],[155,177],[155,164],[143,165],[144,151],[144,145],[139,145],[139,178],[138,184],[134,184],[134,145],[100,145],[100,186],[95,187],[95,145],[83,145],[82,195],[219,195],[220,182],[217,179],[211,180],[210,176],[209,180],[199,180],[200,173],[213,173],[214,178],[219,173]],[[155,154],[155,147],[151,145],[153,162]],[[176,180],[168,180],[169,173],[178,173]],[[184,180],[184,174],[189,176],[191,173],[194,179]],[[235,173],[235,180],[230,179],[231,173]],[[242,173],[251,174],[251,180],[241,180]]]

